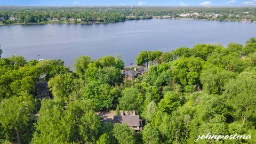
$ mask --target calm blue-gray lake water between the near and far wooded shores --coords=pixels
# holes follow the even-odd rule
[[[118,53],[129,65],[143,50],[165,52],[198,43],[244,44],[251,37],[256,37],[255,22],[138,20],[99,25],[0,26],[2,57],[18,54],[27,60],[60,58],[69,67],[79,55],[98,59]]]

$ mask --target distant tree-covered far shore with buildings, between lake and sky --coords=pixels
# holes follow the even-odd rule
[[[186,17],[181,14],[189,13]],[[125,20],[189,18],[255,21],[255,7],[0,7],[0,23],[108,23]],[[73,18],[73,19],[70,19]]]

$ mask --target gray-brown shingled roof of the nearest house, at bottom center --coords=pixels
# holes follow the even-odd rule
[[[129,126],[140,126],[140,116],[131,116],[131,115],[124,115],[124,116],[114,116],[114,122],[120,124],[127,124]]]

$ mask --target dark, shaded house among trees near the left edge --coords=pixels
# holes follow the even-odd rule
[[[52,95],[49,91],[47,81],[36,83],[36,98],[41,101],[42,99],[51,99]]]

